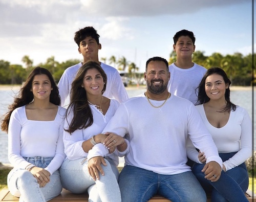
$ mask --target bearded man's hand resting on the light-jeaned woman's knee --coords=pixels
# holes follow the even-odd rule
[[[94,181],[96,181],[96,179],[99,179],[99,172],[104,175],[101,164],[106,166],[106,162],[102,156],[95,156],[88,161],[88,171]]]

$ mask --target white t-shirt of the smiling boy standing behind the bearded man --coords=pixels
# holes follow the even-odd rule
[[[169,71],[170,80],[168,82],[168,91],[172,95],[185,98],[196,104],[196,88],[207,70],[196,63],[189,69],[178,68],[178,66],[172,63],[169,65]]]

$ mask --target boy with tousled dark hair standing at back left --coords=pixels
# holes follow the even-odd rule
[[[61,76],[58,83],[61,106],[65,104],[67,97],[70,96],[71,84],[78,69],[89,60],[98,62],[108,77],[108,84],[103,95],[108,98],[115,98],[120,103],[127,100],[128,95],[118,71],[112,66],[99,61],[98,51],[101,49],[101,44],[97,31],[93,27],[85,27],[75,33],[74,40],[78,45],[78,52],[83,56],[83,62],[70,66]]]

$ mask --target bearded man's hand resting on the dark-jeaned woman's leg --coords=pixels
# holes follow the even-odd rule
[[[210,180],[211,182],[217,182],[221,176],[221,166],[217,162],[211,161],[205,164],[202,172],[205,174],[204,178]]]

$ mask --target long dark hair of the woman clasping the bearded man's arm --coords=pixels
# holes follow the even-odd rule
[[[87,71],[90,69],[98,70],[103,78],[104,87],[101,94],[103,94],[106,89],[106,74],[101,66],[94,61],[84,63],[78,70],[71,86],[70,105],[68,107],[66,116],[68,116],[71,111],[73,111],[74,116],[71,123],[69,123],[69,128],[65,128],[65,131],[69,133],[72,133],[77,129],[87,128],[93,124],[93,115],[88,104],[87,93],[86,90],[81,87],[83,84],[84,75],[86,75]]]

